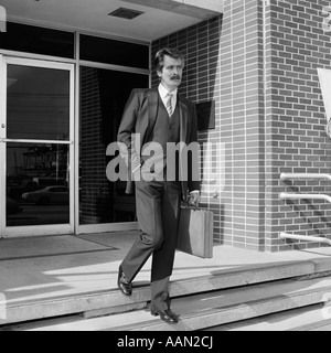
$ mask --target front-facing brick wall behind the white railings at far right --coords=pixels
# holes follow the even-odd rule
[[[331,143],[318,67],[330,68],[330,32],[322,10],[330,1],[270,1],[266,8],[266,249],[317,247],[279,239],[280,232],[328,236],[330,205],[281,201],[280,192],[330,193],[330,182],[279,180],[281,172],[330,173]]]

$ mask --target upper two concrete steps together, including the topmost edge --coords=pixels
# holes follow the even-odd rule
[[[185,268],[188,265],[182,266]],[[327,300],[327,296],[330,298],[331,261],[328,256],[253,265],[248,261],[245,266],[212,268],[203,277],[180,277],[171,282],[172,309],[181,314],[178,325],[169,327],[150,315],[150,285],[138,281],[134,284],[131,297],[122,296],[116,287],[98,291],[90,287],[90,291],[73,295],[64,291],[39,299],[14,297],[7,302],[6,318],[0,315],[0,331],[216,330],[227,324],[318,306]],[[115,278],[113,285],[116,286]]]

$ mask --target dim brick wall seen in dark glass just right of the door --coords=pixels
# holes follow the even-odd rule
[[[111,222],[98,71],[81,71],[79,224]]]

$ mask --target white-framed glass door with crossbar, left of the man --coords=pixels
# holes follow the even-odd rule
[[[74,65],[0,60],[1,236],[74,233]]]

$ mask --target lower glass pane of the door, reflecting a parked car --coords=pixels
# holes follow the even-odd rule
[[[68,146],[8,143],[7,226],[68,224]]]

